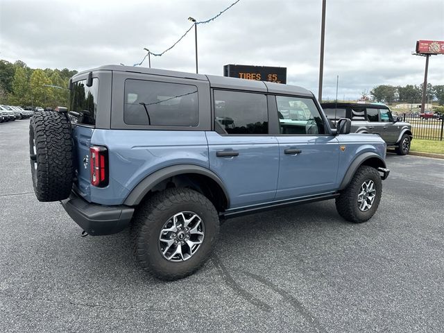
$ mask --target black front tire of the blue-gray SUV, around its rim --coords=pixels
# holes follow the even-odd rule
[[[358,195],[361,193],[364,183],[373,182],[375,198],[370,208],[366,211],[359,209]],[[353,176],[348,187],[341,191],[336,198],[336,210],[345,220],[362,223],[368,221],[375,214],[382,196],[382,180],[379,172],[372,167],[362,165]]]

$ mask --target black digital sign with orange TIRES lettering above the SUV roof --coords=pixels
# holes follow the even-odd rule
[[[287,83],[287,67],[225,65],[223,76],[285,84]]]

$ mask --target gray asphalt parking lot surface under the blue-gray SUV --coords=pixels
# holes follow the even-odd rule
[[[389,154],[368,223],[332,200],[229,220],[203,269],[161,282],[129,232],[82,238],[37,201],[28,123],[0,123],[0,332],[444,332],[444,160]]]

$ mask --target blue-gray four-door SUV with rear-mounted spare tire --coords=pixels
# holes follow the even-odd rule
[[[224,219],[335,199],[361,223],[388,176],[386,144],[335,129],[307,89],[103,66],[73,76],[69,108],[35,112],[31,173],[83,234],[130,226],[140,266],[183,278],[209,257]]]

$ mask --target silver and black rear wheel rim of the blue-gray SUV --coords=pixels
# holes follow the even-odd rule
[[[160,253],[169,262],[184,262],[196,254],[204,232],[203,220],[195,212],[174,214],[160,230]]]

